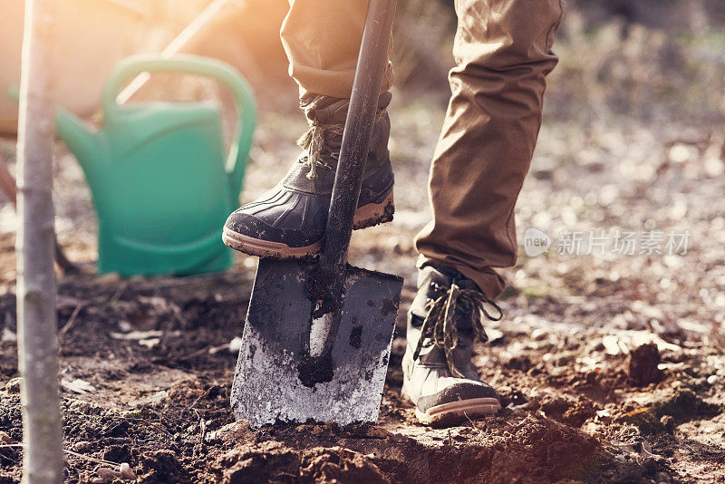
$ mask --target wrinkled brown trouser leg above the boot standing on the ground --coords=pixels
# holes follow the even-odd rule
[[[457,0],[452,96],[430,169],[420,266],[451,267],[488,297],[516,262],[514,205],[541,124],[562,0]]]

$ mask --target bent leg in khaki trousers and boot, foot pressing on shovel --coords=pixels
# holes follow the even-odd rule
[[[310,128],[298,140],[304,152],[285,179],[227,218],[227,246],[252,256],[314,256],[322,245],[334,170],[368,0],[292,0],[281,36],[290,75],[300,86],[300,107]],[[389,46],[390,49],[390,46]],[[382,82],[354,227],[392,219],[393,175],[388,153],[390,121],[385,108],[392,82],[390,63]]]

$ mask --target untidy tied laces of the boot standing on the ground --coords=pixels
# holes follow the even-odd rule
[[[438,288],[443,289],[441,286],[438,286]],[[491,309],[494,310],[493,313],[491,313]],[[423,347],[423,340],[427,340],[428,344],[426,345],[434,344],[443,349],[449,372],[457,378],[464,378],[463,373],[456,367],[453,359],[453,350],[459,345],[459,332],[455,318],[456,311],[459,310],[470,315],[470,323],[474,334],[481,343],[486,343],[488,335],[481,322],[481,315],[486,316],[490,321],[499,321],[503,317],[501,307],[489,299],[487,295],[472,289],[461,289],[454,282],[443,295],[435,300],[430,300],[426,304],[426,310],[428,315],[426,315],[420,327],[420,339],[415,353],[413,353],[413,359],[418,359],[420,350]]]

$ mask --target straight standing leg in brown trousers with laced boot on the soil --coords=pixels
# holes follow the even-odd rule
[[[473,339],[501,317],[493,267],[516,258],[514,205],[541,123],[561,0],[457,0],[458,65],[430,169],[433,221],[416,238],[418,294],[403,356],[403,395],[420,421],[452,423],[500,409],[478,378]]]

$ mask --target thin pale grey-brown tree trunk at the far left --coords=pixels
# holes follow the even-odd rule
[[[18,123],[17,314],[23,376],[25,484],[63,481],[53,270],[53,102],[56,0],[26,0]]]

